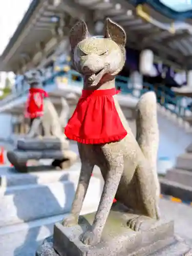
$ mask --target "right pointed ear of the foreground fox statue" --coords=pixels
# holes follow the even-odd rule
[[[117,45],[123,47],[126,44],[126,34],[124,30],[109,18],[107,18],[105,22],[104,37],[111,38]]]

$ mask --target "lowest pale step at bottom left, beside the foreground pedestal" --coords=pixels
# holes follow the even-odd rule
[[[95,207],[89,205],[81,214],[93,212]],[[34,256],[42,241],[53,234],[55,222],[66,215],[58,215],[36,221],[2,227],[0,229],[0,251],[6,256]]]

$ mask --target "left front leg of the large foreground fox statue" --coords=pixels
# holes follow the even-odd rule
[[[75,198],[72,204],[71,214],[63,220],[63,226],[73,226],[78,224],[78,217],[82,208],[84,198],[88,190],[91,174],[93,172],[93,165],[89,162],[82,162],[79,182],[75,193]]]

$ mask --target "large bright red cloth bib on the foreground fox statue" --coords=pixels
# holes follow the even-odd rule
[[[104,144],[123,139],[127,132],[108,90],[82,90],[76,109],[65,127],[65,135],[84,144]]]

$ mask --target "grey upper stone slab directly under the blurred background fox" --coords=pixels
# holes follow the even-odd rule
[[[69,141],[66,137],[42,137],[42,138],[23,138],[17,141],[18,150],[37,151],[37,150],[57,150],[62,151],[69,148]]]

